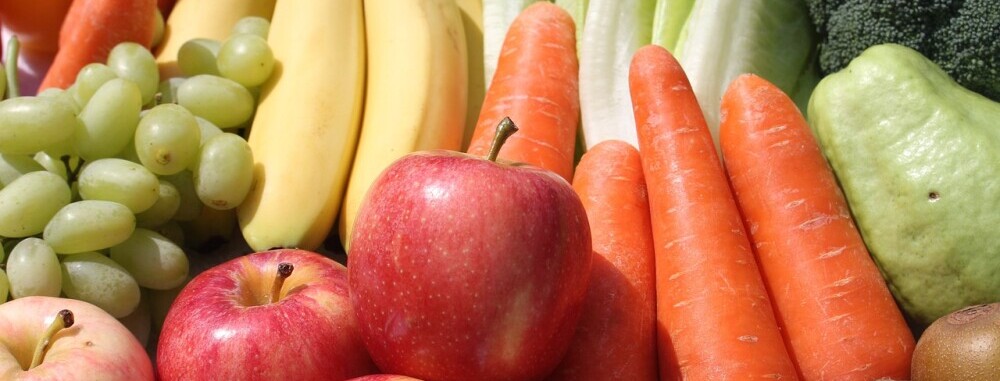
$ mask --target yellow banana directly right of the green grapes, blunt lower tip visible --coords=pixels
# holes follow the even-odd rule
[[[268,44],[276,64],[250,128],[254,185],[237,217],[254,250],[314,250],[339,211],[361,124],[361,0],[278,2]]]

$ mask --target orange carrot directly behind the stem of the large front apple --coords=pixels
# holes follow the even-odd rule
[[[580,119],[578,72],[573,18],[549,2],[525,8],[507,30],[468,152],[486,156],[497,123],[507,116],[520,130],[498,157],[571,181]]]

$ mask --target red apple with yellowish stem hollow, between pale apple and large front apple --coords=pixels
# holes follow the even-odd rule
[[[295,266],[265,304],[278,264]],[[344,380],[377,370],[347,293],[347,269],[303,250],[248,254],[193,278],[163,322],[160,379]]]

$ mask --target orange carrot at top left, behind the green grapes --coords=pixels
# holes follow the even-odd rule
[[[149,48],[153,42],[156,0],[75,0],[59,30],[59,51],[38,91],[66,88],[81,68],[105,62],[118,43]]]

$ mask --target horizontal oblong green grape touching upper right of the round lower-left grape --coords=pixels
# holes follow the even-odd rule
[[[135,215],[114,201],[74,201],[59,209],[42,237],[59,254],[106,249],[122,243],[135,230]]]

